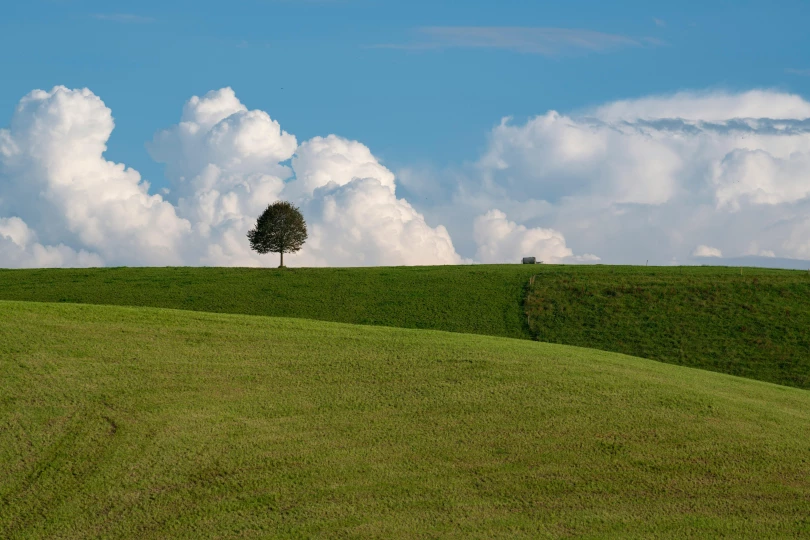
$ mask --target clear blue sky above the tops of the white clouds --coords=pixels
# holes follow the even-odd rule
[[[231,86],[299,139],[337,133],[394,169],[442,167],[475,159],[504,116],[682,89],[808,96],[808,23],[804,0],[9,2],[0,126],[34,88],[88,87],[116,120],[108,158],[160,186],[144,143],[190,96]],[[426,27],[561,28],[637,43],[552,54],[424,47]]]

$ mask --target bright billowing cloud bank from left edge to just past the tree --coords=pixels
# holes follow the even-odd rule
[[[246,233],[278,199],[300,205],[310,226],[292,264],[462,262],[365,145],[330,135],[299,146],[230,88],[191,98],[148,145],[165,164],[168,198],[104,159],[113,125],[86,89],[21,100],[0,131],[0,266],[275,265],[250,251]]]

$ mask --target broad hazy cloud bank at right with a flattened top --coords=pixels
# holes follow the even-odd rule
[[[707,241],[714,255],[806,258],[810,103],[680,93],[505,119],[452,204],[541,222],[605,262],[685,263]]]

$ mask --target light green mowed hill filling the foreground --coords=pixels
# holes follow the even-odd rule
[[[810,392],[529,340],[0,302],[0,537],[810,534]]]

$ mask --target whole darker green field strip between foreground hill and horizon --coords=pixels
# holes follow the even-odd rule
[[[533,337],[810,389],[810,272],[795,270],[745,268],[742,275],[739,268],[556,265],[0,270],[0,299]]]

